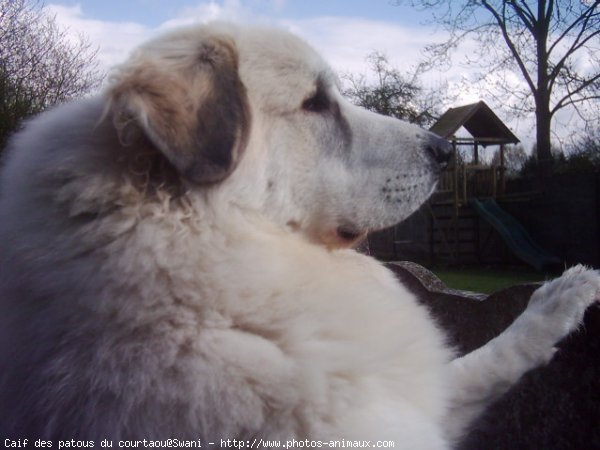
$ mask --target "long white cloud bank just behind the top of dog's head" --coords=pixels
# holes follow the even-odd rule
[[[254,0],[280,9],[284,0]],[[321,17],[306,20],[275,20],[254,13],[240,0],[200,3],[184,8],[176,17],[156,28],[134,22],[108,22],[92,19],[81,5],[49,4],[46,9],[62,26],[83,33],[99,46],[99,60],[105,69],[123,61],[132,48],[165,29],[213,20],[261,23],[278,26],[301,36],[319,50],[339,71],[364,72],[365,56],[378,50],[399,68],[410,69],[424,45],[435,37],[426,29],[403,28],[396,24],[352,18]]]

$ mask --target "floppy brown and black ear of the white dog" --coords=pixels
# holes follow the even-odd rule
[[[233,43],[212,38],[185,48],[150,46],[122,66],[108,90],[110,111],[121,142],[141,130],[181,175],[216,183],[245,146],[246,90]]]

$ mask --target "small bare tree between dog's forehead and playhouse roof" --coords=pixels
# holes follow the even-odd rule
[[[418,83],[417,72],[402,74],[390,66],[387,57],[373,52],[366,58],[371,77],[347,74],[344,95],[368,110],[407,120],[421,126],[439,117],[439,91],[427,91]]]

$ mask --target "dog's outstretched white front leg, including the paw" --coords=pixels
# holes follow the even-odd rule
[[[525,311],[502,334],[450,363],[447,434],[459,438],[525,372],[547,363],[554,345],[575,330],[600,296],[600,274],[583,266],[536,290]]]

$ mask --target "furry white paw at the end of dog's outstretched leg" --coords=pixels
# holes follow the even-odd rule
[[[579,265],[536,290],[523,318],[556,343],[580,325],[586,309],[599,299],[600,273]]]

